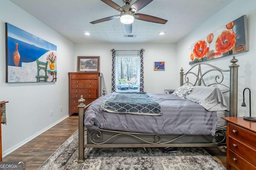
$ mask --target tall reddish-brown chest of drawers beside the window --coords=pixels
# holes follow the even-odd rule
[[[99,72],[69,72],[69,115],[78,113],[78,100],[81,95],[84,104],[90,104],[101,96],[101,77]]]

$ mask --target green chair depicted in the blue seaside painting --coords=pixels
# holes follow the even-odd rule
[[[37,76],[36,76],[36,82],[47,82],[48,76],[47,76],[47,66],[48,61],[42,62],[36,59],[37,63]]]

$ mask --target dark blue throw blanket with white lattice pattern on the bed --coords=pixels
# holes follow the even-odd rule
[[[111,113],[132,113],[138,115],[161,115],[160,105],[145,92],[113,92],[108,100],[102,102],[100,110]]]

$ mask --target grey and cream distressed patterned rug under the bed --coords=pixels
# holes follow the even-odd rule
[[[226,170],[206,150],[177,148],[86,148],[86,160],[77,163],[78,131],[50,156],[38,170]]]

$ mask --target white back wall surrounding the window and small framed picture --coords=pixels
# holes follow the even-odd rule
[[[176,88],[179,84],[173,80],[179,74],[176,70],[175,44],[76,44],[75,56],[100,56],[100,72],[103,73],[105,89],[111,92],[112,53],[115,50],[144,49],[144,91],[147,93],[164,93],[164,89]],[[154,71],[154,61],[165,61],[165,71]],[[75,68],[77,57],[74,59]],[[179,69],[178,69],[179,70]],[[76,70],[75,70],[76,71]]]

